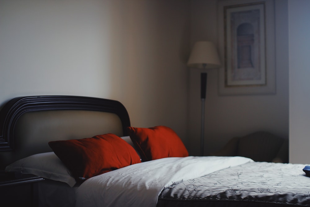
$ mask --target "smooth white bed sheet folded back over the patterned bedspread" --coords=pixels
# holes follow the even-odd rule
[[[76,207],[155,207],[161,191],[184,180],[253,162],[245,157],[170,157],[138,163],[83,182]]]

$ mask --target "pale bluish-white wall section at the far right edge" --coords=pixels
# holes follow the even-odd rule
[[[290,162],[309,164],[310,1],[289,0]]]

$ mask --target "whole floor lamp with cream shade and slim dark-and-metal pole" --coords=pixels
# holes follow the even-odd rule
[[[221,63],[215,45],[209,41],[196,42],[189,56],[188,67],[191,68],[219,68]],[[204,70],[205,71],[205,70]],[[205,100],[207,87],[207,73],[201,72],[201,138],[200,154],[204,155],[205,129]]]

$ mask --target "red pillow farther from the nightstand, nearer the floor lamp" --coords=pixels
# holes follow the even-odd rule
[[[142,157],[142,161],[188,156],[188,151],[182,140],[169,127],[127,127],[127,130]]]

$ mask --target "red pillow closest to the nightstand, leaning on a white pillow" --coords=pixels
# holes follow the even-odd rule
[[[48,144],[76,179],[91,178],[141,162],[132,146],[111,133]]]

